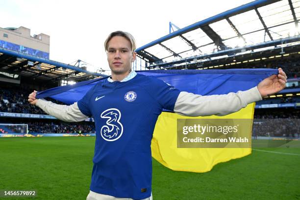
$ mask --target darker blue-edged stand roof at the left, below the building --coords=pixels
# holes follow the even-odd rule
[[[60,79],[83,81],[104,77],[85,69],[25,53],[0,48],[0,71],[30,79],[55,82]]]

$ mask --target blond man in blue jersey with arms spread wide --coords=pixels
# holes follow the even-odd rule
[[[250,90],[200,96],[180,92],[162,80],[131,71],[136,45],[129,33],[111,33],[104,47],[111,76],[78,102],[67,106],[37,100],[36,91],[28,97],[31,104],[63,121],[94,118],[97,137],[87,200],[152,199],[150,144],[163,108],[185,116],[227,115],[279,92],[287,78],[279,68],[279,75],[264,79]]]

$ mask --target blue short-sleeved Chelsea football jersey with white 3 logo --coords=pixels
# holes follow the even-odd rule
[[[96,144],[90,190],[118,198],[151,195],[151,139],[163,109],[174,110],[180,91],[153,76],[95,85],[78,101],[93,116]]]

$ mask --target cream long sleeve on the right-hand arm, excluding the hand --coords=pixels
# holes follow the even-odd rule
[[[228,93],[227,95],[201,96],[180,92],[174,106],[174,112],[183,116],[224,116],[239,111],[247,104],[262,100],[257,89]]]

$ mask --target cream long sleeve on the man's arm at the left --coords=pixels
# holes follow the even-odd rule
[[[59,105],[48,100],[39,99],[35,105],[47,114],[65,122],[80,122],[88,118],[79,110],[77,102],[72,105]]]

